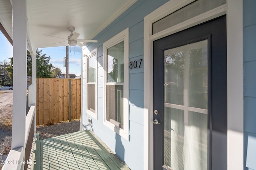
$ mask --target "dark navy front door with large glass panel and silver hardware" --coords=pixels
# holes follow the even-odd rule
[[[154,169],[227,169],[226,16],[153,46]]]

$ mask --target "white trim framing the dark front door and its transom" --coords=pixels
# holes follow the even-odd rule
[[[153,41],[227,15],[228,170],[243,169],[243,3],[227,3],[152,35],[152,24],[194,0],[172,0],[144,17],[144,170],[154,169]],[[234,97],[234,95],[236,97]],[[234,141],[236,141],[234,143]]]

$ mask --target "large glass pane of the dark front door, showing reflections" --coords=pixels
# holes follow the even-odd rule
[[[207,170],[208,41],[164,51],[164,165]]]

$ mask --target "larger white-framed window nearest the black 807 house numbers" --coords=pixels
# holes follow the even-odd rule
[[[128,33],[127,28],[103,43],[103,123],[125,139],[129,139]]]

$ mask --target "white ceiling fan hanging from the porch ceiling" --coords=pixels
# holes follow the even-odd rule
[[[80,47],[82,47],[82,46],[84,46],[84,44],[82,44],[80,42],[83,42],[83,43],[97,43],[98,42],[97,40],[77,39],[80,34],[76,33],[76,32],[73,33],[74,30],[75,30],[75,27],[68,27],[68,31],[71,32],[71,34],[68,35],[68,40],[62,41],[59,43],[68,42],[68,45],[70,45],[70,46],[79,45]],[[44,35],[46,35],[46,34],[44,34]],[[52,35],[46,35],[46,36],[55,37]],[[56,38],[61,38],[61,37],[56,37]],[[61,38],[61,39],[66,39],[66,38]],[[55,43],[55,44],[58,44],[58,43]]]

